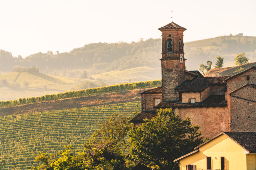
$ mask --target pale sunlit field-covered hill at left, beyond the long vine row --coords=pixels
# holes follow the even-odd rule
[[[2,80],[6,80],[8,84],[1,84]],[[27,86],[25,82],[28,83]],[[29,72],[0,74],[0,101],[66,92],[83,82],[91,82],[97,86],[100,81]]]

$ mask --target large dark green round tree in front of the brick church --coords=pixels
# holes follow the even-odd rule
[[[198,129],[199,126],[191,125],[189,118],[181,120],[172,109],[160,109],[156,118],[146,119],[140,128],[131,129],[130,154],[146,166],[177,169],[178,164],[173,160],[203,142]]]

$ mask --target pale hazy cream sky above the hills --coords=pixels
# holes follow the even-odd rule
[[[255,0],[0,0],[0,49],[13,56],[70,51],[92,42],[161,38],[171,22],[185,42],[244,33],[256,36]]]

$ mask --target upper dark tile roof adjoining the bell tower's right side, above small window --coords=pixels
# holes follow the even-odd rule
[[[179,92],[201,92],[210,85],[227,85],[225,77],[195,77],[192,80],[184,81],[176,88]]]

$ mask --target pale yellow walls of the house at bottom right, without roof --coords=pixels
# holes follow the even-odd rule
[[[252,164],[248,165],[250,169],[247,168],[247,170],[255,170],[256,168],[255,154],[247,156],[241,146],[222,134],[201,146],[199,152],[181,159],[181,170],[186,170],[188,164],[196,165],[197,169],[206,169],[206,156],[211,157],[212,169],[221,168],[221,157],[223,156],[225,157],[226,170],[246,170],[248,162]]]

